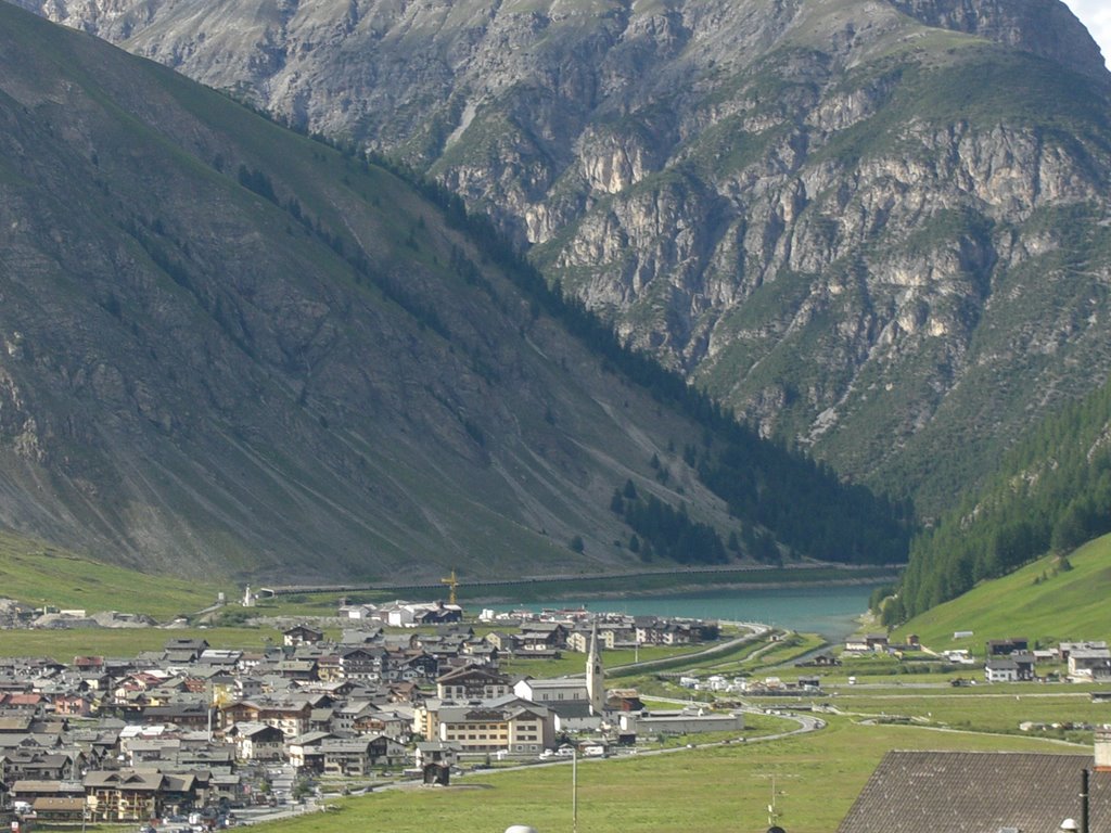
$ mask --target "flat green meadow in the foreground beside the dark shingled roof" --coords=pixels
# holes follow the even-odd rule
[[[768,826],[775,776],[780,823],[791,833],[829,833],[891,749],[1023,750],[1061,745],[1021,737],[865,726],[834,719],[817,734],[579,765],[578,827],[590,833],[735,833]],[[1075,747],[1068,747],[1075,751]],[[430,829],[501,833],[529,824],[571,831],[571,767],[483,773],[448,789],[384,791],[349,799],[331,813],[268,825],[270,833]]]

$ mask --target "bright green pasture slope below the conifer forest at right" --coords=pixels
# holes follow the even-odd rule
[[[934,650],[967,648],[983,654],[989,639],[1025,636],[1031,644],[1060,640],[1111,640],[1111,535],[1098,538],[1068,556],[1062,569],[1047,555],[1010,575],[978,584],[952,601],[915,616],[895,632],[917,633]],[[954,640],[953,633],[972,631]]]

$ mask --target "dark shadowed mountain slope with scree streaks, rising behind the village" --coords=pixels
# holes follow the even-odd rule
[[[0,345],[0,525],[147,572],[905,552],[458,200],[4,3]]]

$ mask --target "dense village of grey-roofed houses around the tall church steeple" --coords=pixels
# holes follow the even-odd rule
[[[453,603],[341,600],[329,620],[343,625],[338,639],[298,622],[261,650],[170,635],[162,650],[131,658],[0,660],[2,809],[24,830],[151,820],[222,827],[252,807],[303,809],[324,791],[402,777],[447,784],[464,764],[603,756],[635,749],[645,732],[743,729],[739,712],[649,712],[635,690],[604,688],[601,651],[713,642],[715,622],[585,611],[482,619],[479,636]],[[9,626],[106,622],[150,624],[28,609]],[[499,669],[504,658],[568,652],[582,655],[582,673]]]

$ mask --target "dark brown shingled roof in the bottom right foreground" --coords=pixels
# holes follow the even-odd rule
[[[1091,755],[889,752],[838,833],[1055,833],[1081,816]],[[1093,772],[1091,833],[1111,833],[1111,773]]]

